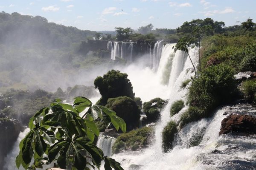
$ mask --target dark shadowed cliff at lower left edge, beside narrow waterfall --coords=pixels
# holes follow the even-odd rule
[[[19,136],[21,126],[15,119],[0,119],[0,169],[3,169],[4,158],[12,150],[13,144]]]

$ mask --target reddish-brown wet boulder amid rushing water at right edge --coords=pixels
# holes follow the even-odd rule
[[[231,114],[221,121],[219,135],[230,132],[256,133],[256,116]]]

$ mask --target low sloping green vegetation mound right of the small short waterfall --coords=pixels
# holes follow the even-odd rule
[[[131,130],[128,133],[122,133],[117,137],[113,144],[113,153],[119,153],[121,150],[137,150],[145,147],[151,142],[152,127],[143,127],[137,130]]]

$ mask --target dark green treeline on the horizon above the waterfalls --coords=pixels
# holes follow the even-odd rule
[[[177,42],[180,38],[192,37],[195,28],[209,28],[211,31],[209,35],[213,34],[224,34],[227,36],[238,36],[244,34],[247,30],[255,30],[255,24],[252,22],[252,19],[241,23],[236,26],[225,26],[223,21],[214,21],[211,18],[205,18],[204,20],[196,19],[192,21],[184,22],[180,27],[176,29],[168,28],[156,28],[152,24],[147,26],[141,26],[137,30],[131,28],[122,28],[116,27],[116,36],[108,34],[109,37],[106,37],[107,34],[102,34],[103,40],[117,40],[117,41],[129,41],[129,40],[146,40],[146,41],[156,41],[156,40],[166,40],[169,42]],[[247,32],[248,33],[248,32]],[[251,32],[250,32],[251,34]],[[98,37],[100,39],[100,37]]]

